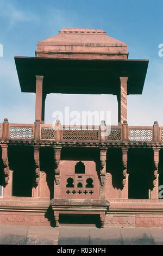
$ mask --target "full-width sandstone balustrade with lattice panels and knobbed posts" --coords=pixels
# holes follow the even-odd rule
[[[163,126],[155,121],[153,126],[107,126],[102,121],[95,125],[62,125],[59,120],[54,125],[41,124],[36,120],[34,124],[9,124],[5,118],[0,123],[1,139],[26,139],[36,141],[95,141],[95,142],[163,142]]]

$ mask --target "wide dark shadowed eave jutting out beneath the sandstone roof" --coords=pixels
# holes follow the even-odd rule
[[[15,56],[22,92],[35,93],[36,75],[45,93],[118,94],[128,76],[128,94],[142,94],[148,59],[60,59]]]

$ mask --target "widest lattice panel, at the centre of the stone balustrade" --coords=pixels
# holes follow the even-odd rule
[[[79,129],[67,129],[63,130],[63,139],[87,139],[98,141],[99,130],[79,130]]]

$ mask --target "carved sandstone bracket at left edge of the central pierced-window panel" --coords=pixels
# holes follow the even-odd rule
[[[60,181],[60,154],[61,154],[61,147],[54,147],[54,174],[55,174],[55,183],[58,185]]]

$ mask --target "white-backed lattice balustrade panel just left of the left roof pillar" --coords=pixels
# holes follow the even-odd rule
[[[33,127],[10,126],[11,139],[33,139]]]

